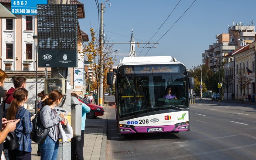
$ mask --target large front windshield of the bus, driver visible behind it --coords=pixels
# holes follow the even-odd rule
[[[117,74],[118,117],[188,107],[187,76],[182,73]],[[183,72],[184,73],[184,72]]]

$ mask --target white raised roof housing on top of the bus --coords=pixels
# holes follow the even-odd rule
[[[181,62],[177,61],[171,56],[152,56],[152,57],[124,57],[120,60],[119,66],[121,65],[139,65],[139,64],[168,64]]]

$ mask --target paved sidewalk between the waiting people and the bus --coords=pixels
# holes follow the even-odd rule
[[[105,160],[107,144],[108,108],[104,104],[104,116],[86,119],[84,130],[84,160]],[[29,110],[35,113],[35,110]],[[37,143],[32,141],[32,160],[40,160],[37,156]]]

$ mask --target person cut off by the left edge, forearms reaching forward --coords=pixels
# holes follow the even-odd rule
[[[3,100],[5,97],[5,91],[3,90],[4,79],[7,78],[7,74],[0,69],[0,111],[3,110]],[[1,158],[4,157],[3,153],[3,141],[6,139],[6,136],[9,132],[12,132],[16,128],[16,124],[20,121],[18,120],[7,120],[3,118],[2,114],[0,114],[0,156]]]

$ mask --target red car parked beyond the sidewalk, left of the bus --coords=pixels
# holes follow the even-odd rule
[[[86,113],[86,118],[95,118],[97,116],[103,116],[104,115],[104,108],[98,105],[95,105],[93,103],[89,103],[84,98],[78,96],[78,99],[85,103],[88,107],[91,108],[91,111],[89,113]]]

